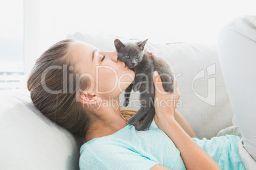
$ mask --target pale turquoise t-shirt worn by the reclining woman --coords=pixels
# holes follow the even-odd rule
[[[199,140],[193,138],[222,169],[245,169],[238,151],[240,138],[226,135]],[[116,133],[84,143],[80,169],[150,169],[156,164],[169,169],[186,169],[180,151],[154,122],[147,131],[127,125]]]

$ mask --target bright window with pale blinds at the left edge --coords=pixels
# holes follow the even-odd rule
[[[0,1],[0,90],[24,88],[23,14],[23,1]]]

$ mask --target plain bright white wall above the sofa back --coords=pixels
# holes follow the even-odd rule
[[[38,55],[76,31],[152,42],[217,43],[239,15],[256,15],[253,0],[24,0],[37,1]],[[34,3],[34,4],[38,4]]]

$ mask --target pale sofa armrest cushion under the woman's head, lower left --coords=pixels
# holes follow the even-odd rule
[[[29,91],[0,95],[1,169],[79,169],[83,140],[51,122]]]

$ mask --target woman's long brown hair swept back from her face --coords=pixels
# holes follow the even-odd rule
[[[84,138],[90,126],[90,119],[76,98],[77,94],[80,96],[79,89],[86,89],[89,81],[83,78],[77,82],[75,69],[63,71],[64,65],[66,68],[71,67],[68,48],[73,41],[75,40],[66,39],[57,42],[36,60],[27,80],[27,89],[31,92],[32,102],[43,115],[76,136]],[[73,93],[69,93],[70,91]],[[136,110],[121,110],[120,113],[128,120]]]

